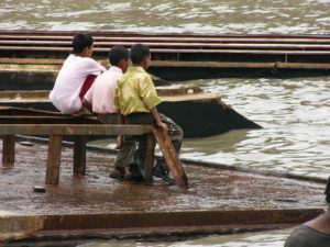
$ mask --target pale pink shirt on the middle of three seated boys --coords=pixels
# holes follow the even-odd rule
[[[116,66],[111,66],[108,71],[97,77],[84,97],[91,104],[92,112],[101,114],[117,113],[114,89],[121,76],[122,70]]]

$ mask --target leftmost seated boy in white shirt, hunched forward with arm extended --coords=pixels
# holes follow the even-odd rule
[[[106,68],[91,58],[94,40],[89,34],[78,33],[73,40],[70,54],[59,70],[50,93],[52,103],[64,114],[81,111],[82,98],[95,78]]]

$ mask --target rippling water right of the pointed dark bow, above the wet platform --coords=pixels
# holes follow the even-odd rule
[[[330,175],[330,86],[328,78],[198,80],[263,130],[231,131],[186,139],[183,157],[286,170],[327,178]]]

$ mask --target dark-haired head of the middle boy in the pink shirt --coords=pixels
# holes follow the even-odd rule
[[[109,52],[110,65],[121,68],[123,72],[129,67],[130,52],[123,46],[113,46]]]

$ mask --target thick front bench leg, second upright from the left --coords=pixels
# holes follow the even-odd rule
[[[58,184],[62,139],[62,135],[50,136],[46,184]]]

